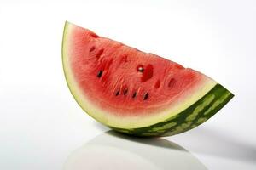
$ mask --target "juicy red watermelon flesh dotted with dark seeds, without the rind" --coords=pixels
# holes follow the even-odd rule
[[[110,114],[157,114],[209,78],[198,71],[143,53],[75,27],[70,55],[74,77],[90,101]]]

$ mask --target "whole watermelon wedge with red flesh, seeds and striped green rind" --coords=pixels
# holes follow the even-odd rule
[[[73,97],[121,133],[166,136],[206,122],[234,95],[199,71],[66,22],[62,61]]]

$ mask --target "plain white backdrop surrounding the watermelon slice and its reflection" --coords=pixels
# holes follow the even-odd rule
[[[166,139],[209,169],[256,169],[253,0],[0,1],[0,169],[61,169],[73,150],[108,131],[67,88],[65,20],[202,71],[230,89],[235,98],[211,120]]]

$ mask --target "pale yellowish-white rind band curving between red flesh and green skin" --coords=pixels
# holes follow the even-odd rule
[[[189,108],[190,105],[195,104],[195,102],[198,99],[201,99],[205,94],[208,94],[213,87],[216,86],[217,82],[209,79],[209,81],[205,82],[204,87],[196,91],[192,97],[189,99],[183,101],[183,105],[178,105],[176,110],[173,108],[170,110],[166,110],[163,112],[163,114],[158,114],[153,117],[143,117],[143,122],[141,121],[142,117],[119,117],[113,116],[111,114],[108,114],[106,111],[102,111],[99,108],[96,108],[94,105],[90,103],[89,99],[86,99],[86,97],[83,94],[83,92],[79,89],[79,85],[77,82],[74,81],[73,73],[70,68],[69,63],[69,34],[73,31],[73,28],[76,26],[67,22],[65,23],[65,28],[63,32],[63,40],[62,40],[62,65],[64,74],[67,80],[67,86],[70,89],[71,94],[73,94],[74,99],[77,101],[77,103],[80,105],[80,107],[88,113],[88,115],[92,116],[94,119],[96,119],[98,122],[102,122],[102,124],[105,124],[108,127],[112,127],[113,129],[120,131],[123,131],[123,133],[131,133],[131,127],[140,129],[137,132],[142,132],[142,129],[146,129],[147,127],[154,127],[154,125],[160,124],[162,122],[165,122],[165,120],[169,120],[170,117],[174,117],[177,115],[180,115],[181,112],[183,112],[183,108]],[[182,109],[182,110],[181,110]],[[134,123],[136,122],[136,123]],[[127,130],[128,129],[128,130]],[[163,133],[162,133],[163,134]],[[141,136],[142,133],[135,133],[135,135]],[[150,136],[146,133],[143,134],[144,136]],[[157,133],[157,135],[160,135],[160,133]]]

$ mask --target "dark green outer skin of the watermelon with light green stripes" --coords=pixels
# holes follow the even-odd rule
[[[229,90],[217,84],[204,97],[189,106],[186,110],[172,116],[165,122],[159,122],[149,127],[122,129],[111,127],[120,133],[135,136],[171,136],[186,132],[201,123],[206,122],[234,97]]]

